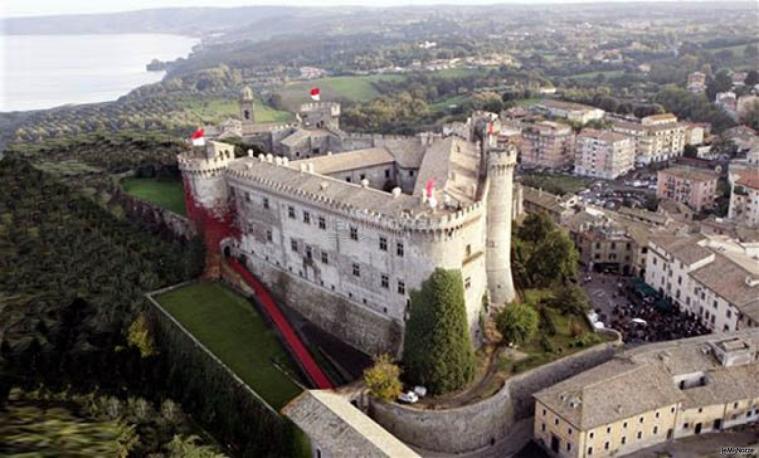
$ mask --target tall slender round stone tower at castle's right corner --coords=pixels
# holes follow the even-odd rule
[[[490,302],[496,306],[514,299],[511,278],[511,206],[517,151],[513,145],[487,148],[487,235],[485,268]]]

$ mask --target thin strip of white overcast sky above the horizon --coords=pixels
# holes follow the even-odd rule
[[[600,0],[604,1],[604,0]],[[625,1],[625,0],[605,0]],[[649,1],[649,0],[644,0]],[[655,0],[651,0],[655,1]],[[677,1],[677,0],[675,0]],[[588,3],[599,0],[0,0],[0,17],[54,14],[92,14],[162,7],[252,5],[434,5],[488,3]]]

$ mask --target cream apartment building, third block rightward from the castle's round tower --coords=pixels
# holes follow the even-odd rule
[[[636,165],[647,165],[682,156],[686,126],[672,114],[648,116],[640,122],[612,119],[612,130],[635,142]]]

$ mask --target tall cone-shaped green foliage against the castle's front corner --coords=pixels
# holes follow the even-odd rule
[[[474,377],[460,271],[435,269],[421,290],[411,292],[403,365],[407,380],[432,394],[461,388]]]

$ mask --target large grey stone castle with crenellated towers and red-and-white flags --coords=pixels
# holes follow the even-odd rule
[[[277,126],[256,125],[249,90],[240,102],[241,137],[269,153],[210,141],[181,154],[188,213],[209,250],[242,259],[280,301],[366,353],[397,354],[409,294],[437,267],[461,271],[475,339],[485,304],[514,298],[516,150],[496,141],[495,115],[457,135],[355,135],[335,103]]]

